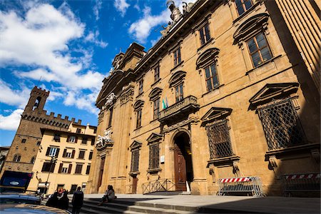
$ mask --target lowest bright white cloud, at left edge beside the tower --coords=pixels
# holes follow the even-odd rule
[[[23,109],[16,109],[9,116],[0,115],[0,129],[16,131],[19,126]]]

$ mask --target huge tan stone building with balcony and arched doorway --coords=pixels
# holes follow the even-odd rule
[[[116,55],[86,193],[215,194],[221,178],[320,172],[320,5],[199,0],[147,53]]]

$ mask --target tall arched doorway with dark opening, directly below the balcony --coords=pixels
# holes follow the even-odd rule
[[[186,191],[193,181],[192,151],[188,133],[180,132],[174,137],[174,168],[176,190]]]

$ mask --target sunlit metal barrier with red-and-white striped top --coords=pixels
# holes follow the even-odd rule
[[[220,178],[218,195],[252,195],[263,197],[262,183],[259,177]]]

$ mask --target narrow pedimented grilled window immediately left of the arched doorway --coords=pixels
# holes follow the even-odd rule
[[[160,167],[160,143],[163,139],[163,135],[158,133],[151,133],[151,136],[147,138],[148,152],[148,173],[158,173],[161,171]]]

